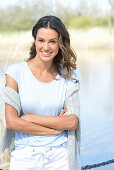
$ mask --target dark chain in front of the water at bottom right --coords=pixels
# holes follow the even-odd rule
[[[81,167],[81,170],[97,168],[97,167],[108,165],[108,164],[111,164],[111,163],[114,163],[114,159],[106,161],[106,162],[98,163],[98,164],[86,165],[86,166]]]

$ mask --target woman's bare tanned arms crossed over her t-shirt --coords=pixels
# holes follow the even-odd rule
[[[16,81],[9,75],[6,75],[6,86],[18,92]],[[17,111],[12,106],[5,104],[7,128],[33,135],[55,135],[64,130],[75,130],[78,126],[78,117],[65,115],[65,112],[66,110],[62,110],[59,116],[27,114],[18,117]]]

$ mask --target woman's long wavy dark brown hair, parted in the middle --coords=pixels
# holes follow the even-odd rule
[[[51,28],[59,34],[59,51],[53,59],[53,64],[59,73],[64,78],[73,79],[72,69],[76,69],[76,55],[70,46],[70,36],[62,21],[56,16],[44,16],[38,20],[32,29],[32,36],[36,40],[37,31],[40,28]],[[27,61],[35,58],[36,46],[33,42],[30,48],[30,57]],[[76,80],[76,79],[75,79]]]

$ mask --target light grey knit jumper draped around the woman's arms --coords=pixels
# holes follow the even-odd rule
[[[67,109],[66,114],[77,115],[79,118],[79,124],[77,129],[68,130],[68,162],[69,170],[81,170],[80,164],[80,106],[79,106],[79,83],[74,84],[65,97],[64,108]],[[12,88],[6,86],[4,88],[4,102],[13,106],[18,115],[20,115],[20,98],[19,94]],[[14,148],[15,133],[13,130],[8,130],[6,125],[2,133],[0,152],[4,152],[5,149],[12,150]]]

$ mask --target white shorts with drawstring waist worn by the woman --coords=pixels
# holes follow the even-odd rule
[[[14,150],[9,170],[68,170],[67,149],[27,146]]]

